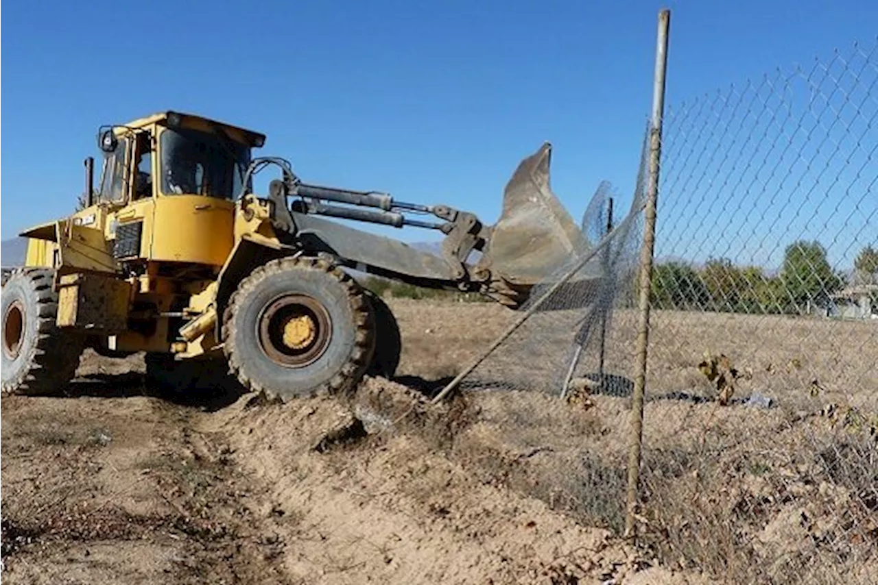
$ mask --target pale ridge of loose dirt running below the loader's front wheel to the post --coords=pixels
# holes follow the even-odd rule
[[[281,538],[296,543],[284,559],[294,579],[621,583],[648,568],[610,531],[507,487],[471,456],[473,433],[484,436],[479,403],[490,410],[498,399],[431,406],[371,379],[349,401],[252,408],[245,399],[200,429],[229,437],[236,464],[270,486],[263,516],[283,518]]]

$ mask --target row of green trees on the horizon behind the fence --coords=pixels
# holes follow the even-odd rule
[[[874,283],[878,252],[871,246],[863,248],[854,268],[858,281]],[[661,262],[653,269],[651,300],[657,309],[802,314],[825,308],[832,294],[847,284],[846,275],[832,268],[824,246],[799,240],[786,247],[774,275],[757,266],[737,266],[726,258],[711,259],[701,268]]]

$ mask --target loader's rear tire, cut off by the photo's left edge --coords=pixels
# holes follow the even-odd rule
[[[76,375],[85,339],[55,326],[54,271],[20,268],[0,289],[0,395],[43,394]]]

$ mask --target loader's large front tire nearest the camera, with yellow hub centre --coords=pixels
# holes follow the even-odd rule
[[[224,312],[223,348],[245,388],[285,402],[356,389],[374,327],[350,275],[325,260],[282,258],[241,281]]]

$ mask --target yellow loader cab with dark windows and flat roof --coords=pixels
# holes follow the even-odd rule
[[[95,203],[112,209],[108,237],[117,259],[219,270],[234,246],[235,200],[245,190],[251,150],[264,139],[172,111],[104,127]]]

